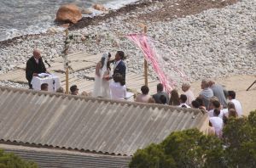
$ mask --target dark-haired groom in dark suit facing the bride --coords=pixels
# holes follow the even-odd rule
[[[115,64],[113,66],[113,75],[119,73],[123,76],[125,80],[126,66],[123,59],[125,59],[125,53],[123,51],[118,51],[115,54]]]

